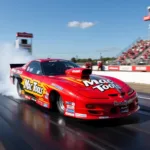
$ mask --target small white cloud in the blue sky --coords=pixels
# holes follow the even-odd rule
[[[68,22],[68,27],[70,27],[70,28],[86,29],[86,28],[90,28],[94,25],[95,25],[95,23],[93,23],[93,22],[79,22],[79,21]]]

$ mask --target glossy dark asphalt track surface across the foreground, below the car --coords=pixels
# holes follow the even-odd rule
[[[149,95],[140,96],[150,103]],[[144,109],[122,119],[81,121],[0,95],[0,150],[150,150],[149,139]]]

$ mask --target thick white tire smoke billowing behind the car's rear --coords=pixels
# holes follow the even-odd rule
[[[12,44],[0,45],[0,94],[18,98],[15,86],[10,82],[10,64],[27,63],[33,60],[27,51],[15,49]]]

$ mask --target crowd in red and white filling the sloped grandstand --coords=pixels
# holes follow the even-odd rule
[[[149,59],[150,57],[150,40],[137,41],[131,48],[126,52],[123,52],[121,56],[117,58],[119,64],[124,65],[127,59],[134,60],[137,57],[142,59]],[[149,49],[148,49],[149,48]]]

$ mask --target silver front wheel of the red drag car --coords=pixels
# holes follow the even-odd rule
[[[62,100],[62,97],[60,95],[56,101],[56,105],[57,105],[57,109],[60,112],[60,114],[64,115],[65,106],[64,106],[64,102]]]

